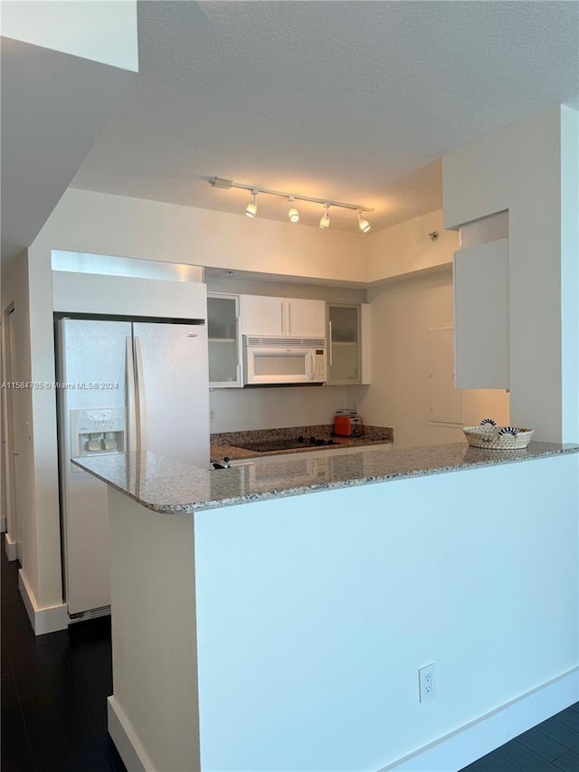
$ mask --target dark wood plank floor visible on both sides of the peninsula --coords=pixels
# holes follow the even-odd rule
[[[2,772],[126,772],[107,733],[109,618],[35,637],[2,563]],[[460,772],[579,772],[579,702]]]

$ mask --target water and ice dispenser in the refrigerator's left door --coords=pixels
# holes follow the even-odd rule
[[[123,453],[125,408],[92,407],[71,410],[71,457]]]

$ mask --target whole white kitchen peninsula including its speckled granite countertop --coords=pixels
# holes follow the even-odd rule
[[[77,461],[110,486],[127,767],[449,772],[576,701],[578,452]]]

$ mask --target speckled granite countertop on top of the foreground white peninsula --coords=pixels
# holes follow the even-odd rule
[[[386,451],[360,449],[356,453],[324,458],[309,454],[299,459],[285,456],[279,463],[213,471],[148,452],[114,453],[72,459],[72,462],[148,509],[171,514],[562,453],[579,453],[579,445],[529,443],[527,450],[489,451],[470,448],[467,443],[417,448],[400,448],[393,443]]]

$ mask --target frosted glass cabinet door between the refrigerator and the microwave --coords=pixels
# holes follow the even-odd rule
[[[207,293],[210,388],[242,386],[239,295]]]

